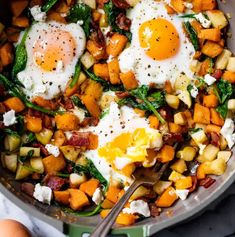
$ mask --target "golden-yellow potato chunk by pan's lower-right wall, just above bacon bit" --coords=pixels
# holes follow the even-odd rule
[[[205,174],[222,175],[227,168],[227,164],[224,159],[216,159],[211,162],[205,162],[204,164]]]

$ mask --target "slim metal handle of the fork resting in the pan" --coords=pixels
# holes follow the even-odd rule
[[[121,199],[114,205],[109,214],[98,224],[94,232],[91,233],[90,237],[106,237],[112,228],[118,214],[122,211],[131,195],[143,182],[134,181]]]

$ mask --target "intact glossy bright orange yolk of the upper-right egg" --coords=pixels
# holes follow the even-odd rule
[[[154,60],[171,58],[180,47],[176,28],[163,18],[144,22],[139,28],[139,41],[146,54]]]

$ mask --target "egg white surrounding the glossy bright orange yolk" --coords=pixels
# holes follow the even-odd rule
[[[119,56],[120,69],[122,72],[133,71],[140,85],[156,83],[161,86],[166,80],[174,83],[175,78],[182,72],[189,78],[193,77],[193,72],[190,70],[189,65],[195,50],[183,32],[182,23],[184,20],[177,15],[168,15],[164,6],[165,3],[166,1],[140,0],[127,13],[127,16],[132,20],[130,29],[132,41],[130,47],[126,48]],[[180,37],[178,53],[169,59],[161,61],[148,57],[139,42],[141,24],[156,18],[164,18],[170,21],[175,26]]]

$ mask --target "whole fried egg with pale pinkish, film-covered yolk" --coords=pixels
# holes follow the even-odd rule
[[[27,64],[17,74],[29,98],[52,99],[63,92],[73,77],[86,44],[83,29],[75,23],[54,21],[32,25],[27,40]]]

